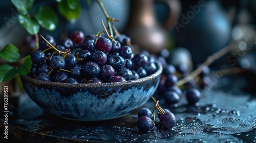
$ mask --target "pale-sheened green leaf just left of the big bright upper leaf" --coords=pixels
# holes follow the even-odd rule
[[[39,32],[40,26],[34,18],[19,14],[18,20],[20,25],[22,25],[30,35],[35,35]]]

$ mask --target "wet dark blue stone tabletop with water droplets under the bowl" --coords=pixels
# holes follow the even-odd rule
[[[223,83],[227,81],[233,86]],[[42,111],[24,94],[18,99],[18,119],[9,122],[10,138],[23,142],[256,142],[256,95],[241,84],[236,86],[244,81],[224,77],[219,81],[222,86],[203,91],[195,106],[187,106],[183,98],[176,107],[166,107],[160,99],[159,104],[176,115],[176,127],[166,130],[156,118],[156,126],[147,133],[136,127],[138,110],[109,121],[70,121]],[[143,107],[153,109],[154,102]]]

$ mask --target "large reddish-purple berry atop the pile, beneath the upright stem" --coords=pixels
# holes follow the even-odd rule
[[[105,37],[100,37],[96,42],[96,50],[109,53],[112,50],[112,41]]]

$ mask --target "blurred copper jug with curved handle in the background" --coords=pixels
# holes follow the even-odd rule
[[[159,0],[158,0],[159,1]],[[166,48],[168,31],[172,23],[178,20],[180,15],[180,3],[178,0],[162,0],[170,10],[169,16],[163,26],[158,23],[154,13],[154,0],[130,1],[130,17],[124,34],[131,37],[131,42],[153,54]],[[135,49],[138,51],[138,49]]]

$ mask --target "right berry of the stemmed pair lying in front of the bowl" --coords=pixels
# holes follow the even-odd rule
[[[172,129],[176,125],[176,117],[172,112],[165,112],[160,116],[160,122],[167,129]]]

